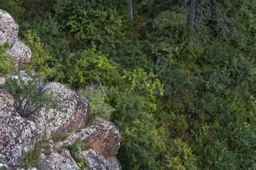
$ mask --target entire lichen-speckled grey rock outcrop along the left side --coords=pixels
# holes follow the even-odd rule
[[[18,25],[14,18],[0,10],[0,44],[9,41],[7,52],[14,58],[16,67],[20,68],[29,62],[31,51],[17,38],[17,34]],[[24,71],[20,71],[19,75],[9,75],[8,78],[17,80],[18,86],[21,82],[28,83],[31,80]],[[76,159],[66,149],[66,146],[75,144],[79,138],[86,146],[79,152],[86,160],[88,169],[121,169],[115,155],[122,135],[113,123],[104,119],[96,118],[92,123],[87,123],[90,109],[86,98],[63,84],[50,82],[44,85],[42,79],[37,79],[37,90],[50,90],[56,94],[58,107],[49,110],[41,108],[25,117],[15,110],[14,97],[3,89],[5,81],[6,77],[0,77],[0,169],[29,169],[23,164],[17,164],[17,160],[33,150],[36,141],[40,145],[47,142],[50,146],[47,154],[45,148],[39,148],[40,169],[80,169]],[[34,106],[24,104],[24,107],[29,109]],[[51,140],[52,136],[60,134],[68,137],[64,141]]]

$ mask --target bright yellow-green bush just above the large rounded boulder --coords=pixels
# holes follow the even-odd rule
[[[122,84],[122,77],[116,70],[116,63],[108,60],[95,48],[80,53],[71,53],[60,68],[64,77],[56,76],[56,80],[73,88],[80,88],[99,81],[103,86]]]

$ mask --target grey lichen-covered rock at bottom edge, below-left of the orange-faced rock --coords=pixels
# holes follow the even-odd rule
[[[66,149],[63,149],[62,153],[52,152],[49,155],[42,153],[38,165],[45,170],[80,169],[76,161],[71,157],[70,152]]]

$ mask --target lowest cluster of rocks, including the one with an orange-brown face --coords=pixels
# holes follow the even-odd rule
[[[61,167],[72,166],[71,169],[77,169],[77,165],[72,163],[69,151],[63,150],[63,148],[75,144],[78,138],[83,140],[86,147],[93,148],[93,150],[86,149],[81,153],[82,157],[86,159],[88,169],[121,169],[121,165],[115,157],[120,146],[121,133],[113,123],[101,118],[96,118],[79,132],[70,134],[64,141],[57,143],[52,141],[53,153],[48,156],[44,154],[41,156],[41,168],[59,167],[61,169]],[[62,153],[56,151],[62,151]]]

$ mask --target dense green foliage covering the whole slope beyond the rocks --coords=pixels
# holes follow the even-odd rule
[[[116,124],[124,169],[256,168],[255,0],[198,0],[193,29],[189,1],[133,1],[132,22],[126,1],[0,4],[30,68]]]

